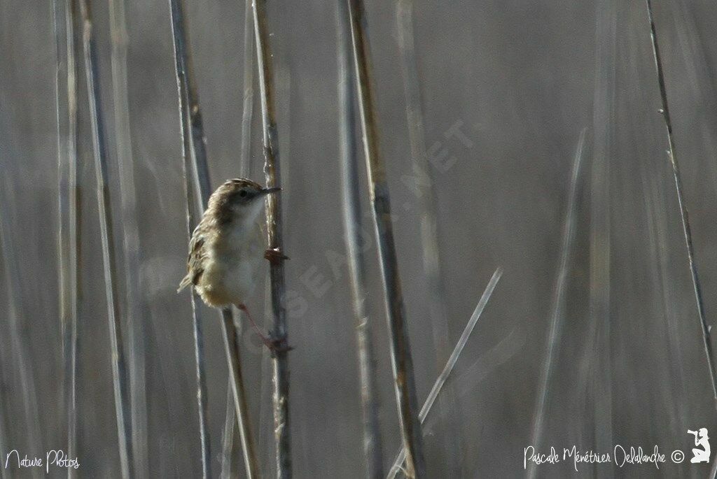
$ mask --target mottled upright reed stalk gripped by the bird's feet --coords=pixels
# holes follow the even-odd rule
[[[254,0],[254,31],[257,49],[257,69],[262,105],[262,130],[264,145],[264,173],[266,187],[278,187],[281,183],[279,161],[279,138],[276,126],[274,70],[267,24],[266,1]],[[274,366],[274,438],[276,442],[277,478],[291,477],[291,442],[289,425],[289,362],[288,331],[286,324],[285,273],[282,251],[282,216],[280,195],[267,195],[267,244],[275,252],[270,261],[271,304],[274,324],[270,337],[279,345],[272,354]]]

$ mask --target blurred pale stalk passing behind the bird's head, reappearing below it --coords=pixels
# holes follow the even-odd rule
[[[242,81],[242,146],[239,154],[239,176],[248,178],[251,173],[252,120],[254,118],[254,16],[252,0],[244,2],[244,72]],[[237,333],[238,334],[238,333]],[[232,377],[229,377],[229,381]],[[232,389],[229,387],[229,393]],[[222,435],[222,478],[232,473],[232,450],[234,449],[234,401],[227,394],[227,414]],[[257,470],[258,470],[257,465]]]

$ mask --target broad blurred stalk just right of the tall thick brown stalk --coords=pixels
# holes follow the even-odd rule
[[[445,364],[450,354],[450,330],[445,301],[445,287],[441,274],[440,250],[438,248],[438,220],[436,195],[426,151],[421,91],[418,77],[418,60],[413,30],[413,0],[399,0],[396,4],[397,31],[401,67],[406,97],[406,120],[411,146],[411,158],[415,177],[415,193],[421,218],[421,246],[423,271],[426,275],[429,317],[435,346],[436,367]],[[460,405],[455,387],[448,384],[439,400],[443,425],[443,452],[447,473],[463,475],[461,451],[463,450],[462,428],[460,427]]]

